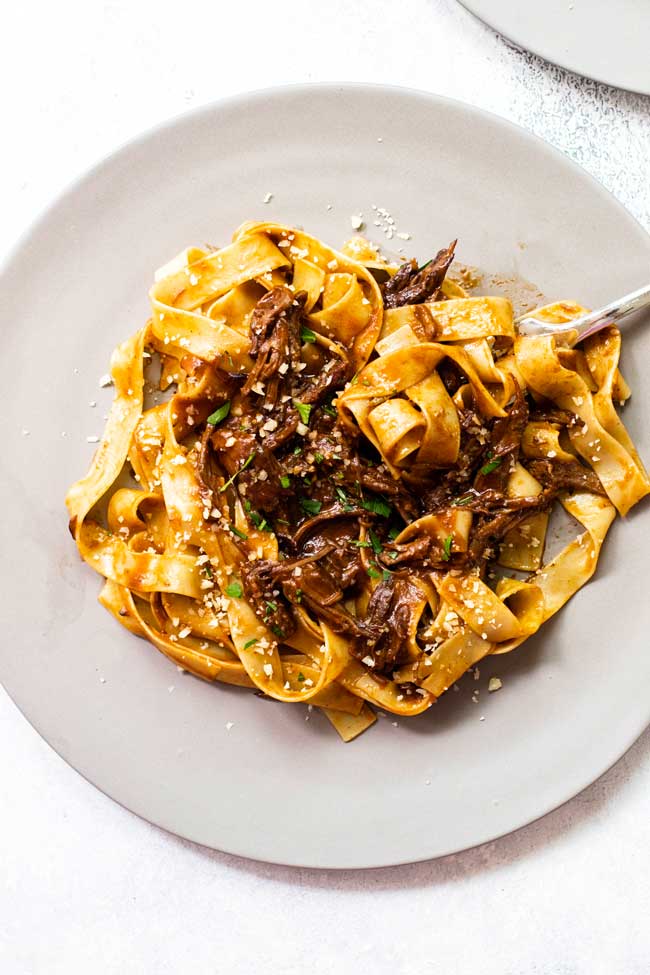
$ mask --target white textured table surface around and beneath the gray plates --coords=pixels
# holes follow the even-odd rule
[[[454,0],[60,0],[3,7],[0,252],[140,130],[302,81],[408,85],[480,105],[564,149],[650,229],[650,100],[508,48]],[[512,836],[365,873],[271,867],[169,836],[68,768],[1,691],[0,762],[3,975],[650,968],[648,733]]]

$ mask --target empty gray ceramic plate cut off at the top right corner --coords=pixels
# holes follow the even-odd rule
[[[461,0],[518,47],[602,81],[650,95],[648,0]]]

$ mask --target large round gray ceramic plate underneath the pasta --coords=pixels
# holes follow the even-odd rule
[[[593,304],[647,279],[650,239],[560,153],[465,105],[345,86],[247,95],[146,134],[51,207],[1,280],[0,678],[52,747],[124,806],[286,864],[380,866],[500,836],[592,782],[650,721],[643,511],[614,526],[595,581],[537,639],[421,719],[383,718],[349,745],[317,714],[306,722],[302,708],[179,674],[97,604],[63,496],[94,450],[86,437],[101,433],[111,350],[147,317],[153,269],[186,244],[225,242],[247,218],[337,244],[373,203],[420,257],[458,236],[467,263],[549,295]],[[648,361],[650,334],[637,329],[626,419],[647,458]],[[504,686],[488,695],[493,674]]]

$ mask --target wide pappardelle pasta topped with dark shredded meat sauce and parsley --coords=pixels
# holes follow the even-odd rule
[[[615,408],[618,329],[520,337],[507,299],[448,276],[454,249],[397,267],[247,223],[183,251],[113,354],[66,498],[120,623],[206,680],[322,708],[346,741],[523,643],[650,491]],[[545,561],[554,505],[580,530]]]

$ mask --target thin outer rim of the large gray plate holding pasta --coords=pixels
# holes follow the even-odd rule
[[[579,174],[580,177],[590,184],[591,189],[597,193],[602,199],[606,200],[611,206],[614,204],[615,208],[618,209],[619,214],[624,218],[630,227],[634,227],[638,232],[640,232],[648,241],[650,242],[650,234],[646,231],[643,225],[637,220],[634,214],[621,203],[620,200],[614,194],[607,189],[596,177],[594,177],[590,172],[584,169],[579,163],[572,159],[567,153],[559,149],[557,146],[543,139],[542,137],[536,135],[534,132],[529,131],[523,126],[512,122],[511,120],[498,115],[495,112],[487,111],[479,106],[473,105],[469,102],[464,102],[460,99],[450,98],[446,95],[440,95],[435,92],[426,91],[425,89],[413,88],[410,86],[403,85],[384,85],[378,83],[365,83],[365,82],[307,82],[307,83],[296,83],[296,84],[285,84],[285,85],[274,85],[266,88],[256,88],[253,90],[240,91],[233,95],[225,98],[214,99],[206,102],[203,105],[196,106],[190,110],[175,113],[174,115],[161,120],[160,122],[149,126],[148,128],[139,132],[136,136],[126,139],[121,142],[115,149],[109,151],[102,155],[94,164],[90,167],[85,168],[81,173],[72,177],[68,182],[64,183],[62,188],[56,193],[50,202],[39,210],[39,212],[27,223],[26,227],[19,234],[16,241],[12,246],[10,246],[5,254],[5,256],[0,261],[0,281],[4,275],[10,270],[13,263],[20,258],[24,251],[26,251],[29,246],[31,239],[34,238],[46,225],[50,216],[59,208],[65,205],[66,201],[70,196],[76,193],[78,190],[83,188],[87,181],[94,179],[101,171],[107,167],[110,167],[116,160],[118,160],[122,155],[134,150],[137,147],[142,146],[150,139],[160,136],[168,131],[173,131],[178,126],[182,126],[185,123],[191,122],[195,118],[201,116],[210,116],[214,112],[218,112],[220,109],[226,108],[237,108],[242,106],[244,109],[250,104],[251,101],[256,101],[260,99],[277,98],[282,97],[286,94],[302,94],[309,95],[310,92],[318,91],[321,94],[330,94],[332,96],[340,95],[341,93],[355,93],[355,92],[366,92],[366,93],[379,93],[379,92],[390,92],[391,94],[397,96],[406,96],[410,99],[416,98],[424,102],[434,102],[442,103],[443,105],[450,106],[456,110],[465,113],[466,115],[475,115],[477,117],[488,120],[491,124],[496,124],[496,126],[505,126],[509,128],[514,133],[516,133],[518,138],[523,138],[529,143],[533,144],[536,149],[545,153],[548,156],[561,161],[563,165],[568,166],[574,171],[574,173]],[[1,657],[0,657],[1,662]],[[51,748],[55,754],[65,762],[70,768],[79,774],[86,782],[92,785],[94,788],[98,789],[103,795],[107,796],[113,802],[116,802],[123,809],[126,809],[129,813],[143,819],[150,825],[161,829],[163,832],[168,833],[171,836],[179,837],[184,840],[189,840],[190,842],[200,846],[206,850],[216,850],[220,853],[227,854],[229,856],[241,857],[246,860],[253,860],[258,862],[270,863],[277,866],[291,867],[296,869],[314,869],[314,870],[379,870],[385,869],[387,867],[397,867],[403,866],[409,863],[422,863],[429,860],[437,860],[446,856],[451,856],[454,854],[462,853],[467,850],[476,849],[486,843],[494,842],[502,837],[505,838],[513,833],[517,833],[520,830],[530,826],[531,824],[543,819],[549,813],[554,812],[557,809],[562,808],[564,805],[579,796],[586,788],[597,782],[603,775],[605,775],[623,756],[629,751],[629,749],[634,745],[644,731],[650,727],[650,717],[642,719],[640,726],[637,727],[638,723],[635,723],[634,730],[631,735],[626,737],[626,743],[622,750],[620,746],[615,749],[615,753],[607,754],[605,757],[605,764],[598,763],[600,771],[593,774],[588,772],[581,779],[581,784],[578,786],[572,795],[561,799],[560,801],[550,801],[547,802],[544,807],[536,812],[532,816],[527,816],[524,821],[507,828],[505,831],[501,829],[489,830],[484,836],[480,836],[478,839],[471,843],[462,842],[460,845],[452,844],[448,849],[434,853],[423,853],[421,856],[407,856],[406,858],[393,858],[386,860],[382,863],[368,863],[357,861],[355,863],[330,863],[323,864],[317,863],[314,859],[309,857],[289,860],[286,856],[282,858],[274,858],[273,855],[269,853],[264,853],[257,851],[255,838],[251,837],[251,843],[248,847],[248,852],[242,852],[241,848],[234,849],[229,848],[228,843],[223,845],[220,843],[218,846],[212,844],[206,844],[204,841],[195,838],[190,835],[191,831],[187,830],[183,833],[174,832],[168,826],[157,822],[155,818],[151,818],[142,812],[135,811],[131,809],[129,805],[122,802],[119,798],[111,795],[109,792],[105,791],[101,785],[98,785],[89,777],[89,774],[83,772],[74,761],[71,761],[66,756],[64,756],[58,747],[56,747],[52,742],[50,742],[39,730],[37,722],[33,720],[23,709],[23,707],[14,698],[9,688],[2,681],[0,675],[0,684],[4,688],[9,700],[16,707],[18,712],[23,718],[28,722],[28,724],[34,729],[34,731],[39,735],[42,741],[44,741],[49,748]]]

